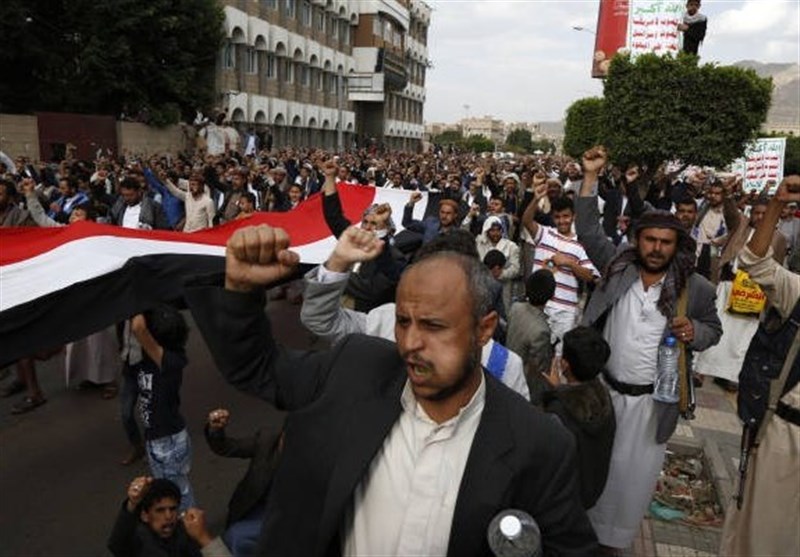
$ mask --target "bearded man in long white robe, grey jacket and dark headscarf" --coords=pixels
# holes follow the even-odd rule
[[[677,423],[677,404],[651,396],[658,347],[671,334],[688,348],[705,350],[719,341],[722,328],[714,287],[694,272],[695,242],[674,215],[644,213],[631,245],[619,250],[606,237],[596,199],[598,172],[606,162],[603,147],[584,153],[575,224],[592,262],[605,269],[583,324],[602,331],[611,346],[604,379],[617,430],[608,482],[589,518],[600,543],[613,554],[629,547],[639,532]],[[681,315],[684,289],[688,303]]]

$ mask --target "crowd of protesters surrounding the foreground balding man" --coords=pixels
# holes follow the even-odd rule
[[[664,336],[685,345],[695,386],[710,375],[736,391],[749,339],[766,312],[731,311],[738,273],[765,258],[795,278],[800,271],[792,184],[781,184],[770,200],[712,169],[617,168],[602,148],[577,161],[495,158],[438,146],[417,154],[293,148],[246,156],[101,153],[94,161],[57,164],[20,157],[13,165],[0,163],[0,176],[2,226],[95,220],[188,233],[259,211],[291,211],[319,194],[339,244],[294,298],[303,303],[309,330],[331,341],[354,332],[394,340],[396,327],[405,326],[395,324],[398,285],[417,259],[454,251],[479,261],[491,276],[490,309],[499,316],[481,362],[572,432],[581,512],[609,554],[629,547],[638,533],[675,427],[677,411],[665,411],[650,396]],[[405,212],[393,215],[388,205],[375,204],[350,223],[338,195],[341,184],[407,192]],[[414,206],[426,192],[435,210],[415,220]],[[757,234],[764,226],[768,255],[750,249],[766,234]],[[382,247],[375,249],[371,238]],[[786,318],[793,304],[775,302],[768,281],[762,286],[771,302],[788,308]],[[684,291],[688,302],[681,299]],[[153,476],[172,482],[134,480],[110,547],[118,555],[151,554],[154,543],[160,551],[191,546],[221,554],[225,548],[204,524],[198,526],[199,511],[190,509],[195,514],[182,523],[177,514],[194,504],[191,443],[178,408],[187,365],[185,323],[169,307],[131,317],[58,352],[68,370],[80,370],[68,373],[70,381],[99,386],[105,398],[119,392],[131,443],[123,464],[147,455]],[[24,391],[14,413],[46,402],[35,361],[51,356],[18,362],[17,377],[2,391]],[[795,403],[796,383],[790,376],[783,389]],[[786,415],[796,420],[793,411]],[[235,555],[246,555],[261,531],[283,435],[254,432],[252,440],[234,443],[224,436],[228,416],[224,409],[212,412],[206,437],[219,454],[253,459],[242,489],[257,493],[247,497],[237,489],[225,537]],[[797,422],[791,423],[796,432]],[[143,499],[148,489],[153,495]]]

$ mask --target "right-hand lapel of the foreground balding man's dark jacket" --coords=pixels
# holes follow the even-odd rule
[[[511,420],[498,390],[500,384],[486,376],[486,403],[472,441],[461,478],[448,555],[474,555],[486,544],[486,527],[498,505],[509,496],[512,470],[502,457],[514,448]]]

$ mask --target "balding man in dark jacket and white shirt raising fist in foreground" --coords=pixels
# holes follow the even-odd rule
[[[225,288],[186,292],[226,379],[291,411],[259,554],[488,555],[489,522],[515,508],[539,524],[545,555],[593,555],[569,433],[480,366],[497,324],[482,265],[445,252],[412,266],[398,286],[396,345],[352,335],[327,352],[290,351],[275,343],[262,290],[297,265],[288,245],[280,229],[239,229]],[[381,248],[350,228],[326,265]],[[432,441],[442,458],[428,464],[450,469],[426,475],[416,457]]]

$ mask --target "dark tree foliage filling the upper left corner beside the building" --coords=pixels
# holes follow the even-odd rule
[[[214,102],[216,0],[5,0],[0,110],[177,121]]]

